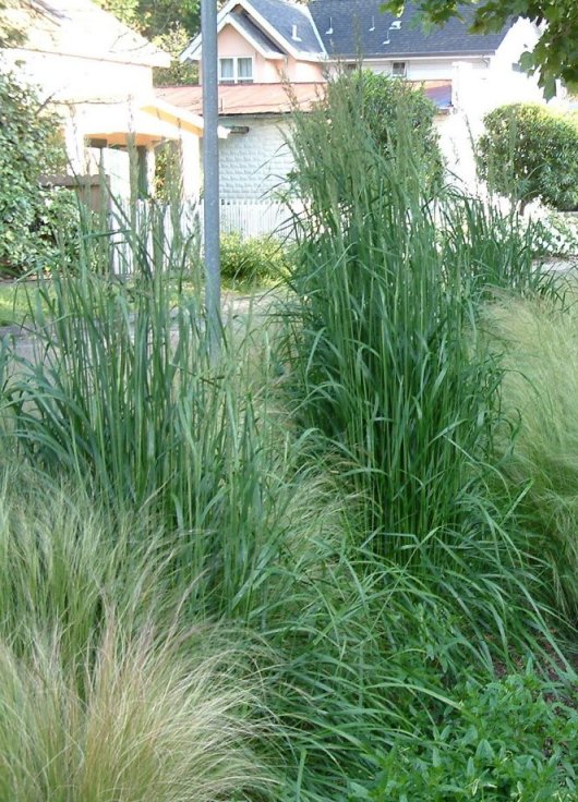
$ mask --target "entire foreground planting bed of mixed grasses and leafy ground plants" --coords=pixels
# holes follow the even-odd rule
[[[0,800],[576,795],[573,295],[346,90],[218,360],[106,238],[0,351]]]

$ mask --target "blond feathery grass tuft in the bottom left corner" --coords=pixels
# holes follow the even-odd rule
[[[29,654],[0,644],[0,799],[11,802],[215,802],[266,797],[246,712],[254,685],[234,654],[186,657],[154,631],[123,635],[109,617],[82,689],[58,630]],[[203,646],[203,651],[206,647]]]

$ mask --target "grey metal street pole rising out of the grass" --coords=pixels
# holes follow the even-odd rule
[[[201,0],[201,69],[203,82],[203,186],[205,238],[205,304],[209,353],[220,354],[219,142],[217,77],[217,0]]]

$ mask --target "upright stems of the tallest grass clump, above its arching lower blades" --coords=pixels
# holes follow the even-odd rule
[[[443,559],[442,544],[490,509],[501,374],[477,301],[489,284],[531,280],[531,252],[505,221],[501,246],[487,245],[495,211],[428,196],[401,101],[386,155],[357,102],[341,81],[296,118],[300,410],[364,499],[361,536],[402,561],[429,538]]]

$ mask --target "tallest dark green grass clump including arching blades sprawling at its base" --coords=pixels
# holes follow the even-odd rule
[[[538,285],[529,241],[468,198],[433,203],[402,110],[385,158],[342,86],[292,139],[305,211],[285,387],[345,493],[339,551],[302,578],[294,563],[282,604],[302,602],[277,630],[294,657],[276,709],[297,730],[299,793],[315,800],[386,799],[375,753],[428,752],[465,678],[483,693],[529,653],[541,671],[568,668],[537,600],[542,567],[489,490],[502,368],[480,305],[491,288]],[[501,247],[485,241],[493,220]]]

